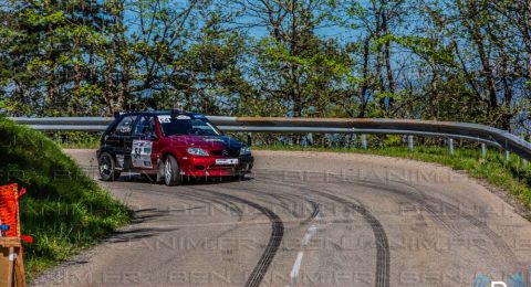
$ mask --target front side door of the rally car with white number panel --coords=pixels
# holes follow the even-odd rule
[[[134,169],[156,169],[159,141],[155,118],[140,116],[136,121],[132,139],[132,166]]]

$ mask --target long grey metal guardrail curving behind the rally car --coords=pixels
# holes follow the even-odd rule
[[[531,160],[531,144],[508,131],[489,126],[409,119],[358,118],[272,118],[222,117],[208,118],[223,131],[236,132],[290,132],[290,134],[372,134],[442,137],[466,139],[502,148],[525,160]],[[108,117],[49,117],[11,118],[44,131],[103,131],[114,118]],[[410,140],[412,141],[412,140]],[[452,140],[449,140],[452,145]],[[410,147],[413,144],[410,142]],[[450,147],[452,150],[452,147]]]

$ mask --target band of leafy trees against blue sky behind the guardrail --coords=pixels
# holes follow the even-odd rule
[[[179,104],[529,134],[530,12],[512,2],[8,0],[0,108],[101,116]]]

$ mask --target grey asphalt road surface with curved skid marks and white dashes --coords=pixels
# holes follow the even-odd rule
[[[93,150],[67,152],[97,178]],[[461,173],[346,153],[256,161],[243,181],[101,182],[133,224],[33,285],[472,286],[482,274],[511,286],[517,273],[529,284],[530,222]]]

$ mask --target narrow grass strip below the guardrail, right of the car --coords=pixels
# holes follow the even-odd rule
[[[407,147],[383,147],[364,150],[275,145],[256,146],[253,149],[356,152],[436,162],[455,170],[465,170],[473,178],[486,180],[488,183],[514,195],[528,211],[531,210],[531,163],[525,166],[514,155],[511,155],[510,161],[506,162],[504,153],[494,149],[489,149],[485,159],[480,157],[479,148],[456,149],[454,156],[450,156],[448,148],[433,146],[417,146],[414,152],[410,152]]]

